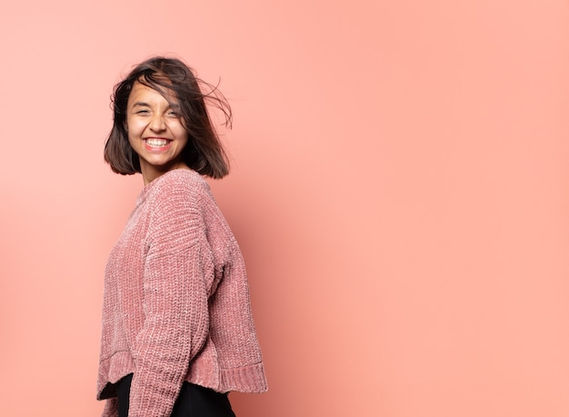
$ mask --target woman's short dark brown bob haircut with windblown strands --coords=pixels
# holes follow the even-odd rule
[[[182,151],[182,160],[190,168],[211,178],[229,174],[229,162],[219,136],[206,108],[213,104],[225,116],[225,127],[231,128],[231,107],[217,86],[207,84],[194,71],[175,58],[155,56],[147,59],[120,83],[111,96],[114,110],[113,129],[105,143],[105,162],[116,174],[140,173],[138,154],[128,143],[126,132],[126,105],[135,82],[144,84],[166,98],[174,92],[180,104],[182,124],[188,134],[188,143]],[[204,94],[200,86],[207,89]]]

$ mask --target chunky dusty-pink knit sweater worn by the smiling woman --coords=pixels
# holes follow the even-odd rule
[[[116,417],[114,383],[134,372],[129,417],[170,415],[182,382],[265,392],[245,263],[197,173],[145,186],[105,268],[97,399]]]

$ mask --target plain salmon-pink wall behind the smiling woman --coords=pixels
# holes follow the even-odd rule
[[[2,415],[101,410],[103,268],[142,186],[103,164],[108,97],[172,52],[235,110],[213,186],[270,384],[238,415],[569,415],[568,3],[342,3],[3,6]]]

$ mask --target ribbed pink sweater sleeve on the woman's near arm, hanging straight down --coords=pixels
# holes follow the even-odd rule
[[[133,346],[129,417],[167,417],[209,327],[200,213],[166,193],[150,213],[143,278],[145,322]]]

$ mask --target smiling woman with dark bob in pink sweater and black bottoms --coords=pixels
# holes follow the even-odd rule
[[[243,257],[202,177],[228,174],[205,102],[231,110],[200,84],[155,57],[115,86],[105,161],[145,188],[105,269],[105,417],[235,416],[227,392],[266,391]]]

